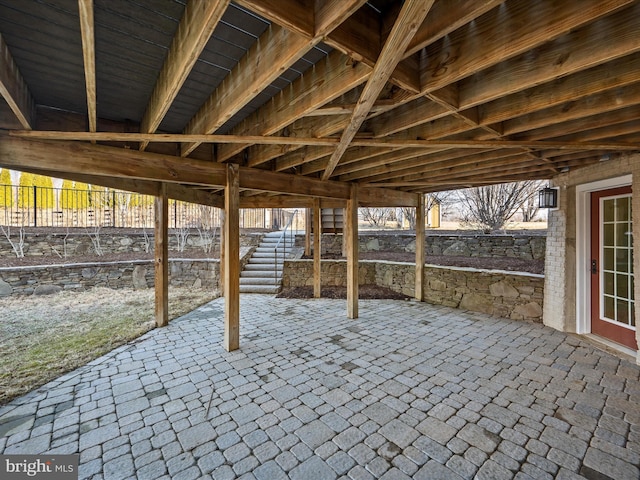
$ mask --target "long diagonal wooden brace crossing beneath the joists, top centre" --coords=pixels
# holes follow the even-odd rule
[[[333,170],[340,162],[342,155],[349,147],[351,140],[355,137],[360,126],[367,119],[367,115],[373,107],[378,95],[386,85],[389,77],[393,73],[398,62],[401,60],[404,51],[409,44],[418,27],[429,13],[433,5],[433,0],[423,0],[421,2],[406,2],[395,24],[385,41],[380,56],[373,67],[373,72],[367,80],[356,108],[351,114],[349,125],[343,130],[340,143],[329,159],[329,163],[322,174],[322,179],[327,180],[333,174]]]

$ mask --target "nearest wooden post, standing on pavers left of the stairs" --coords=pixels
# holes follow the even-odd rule
[[[240,348],[240,190],[238,165],[227,164],[224,189],[224,348]]]

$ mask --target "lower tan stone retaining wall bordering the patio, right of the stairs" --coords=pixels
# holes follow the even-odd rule
[[[346,285],[346,261],[323,260],[322,284]],[[385,261],[359,262],[359,283],[415,295],[415,265]],[[312,260],[287,260],[283,286],[313,285]],[[516,320],[542,321],[544,275],[428,265],[425,301]]]

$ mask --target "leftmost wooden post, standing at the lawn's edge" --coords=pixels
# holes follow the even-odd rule
[[[169,199],[167,186],[162,184],[154,201],[155,208],[155,291],[156,326],[169,324]]]

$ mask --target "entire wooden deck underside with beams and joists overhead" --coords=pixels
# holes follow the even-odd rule
[[[640,150],[638,32],[638,0],[0,0],[0,165],[221,205],[236,163],[251,206],[550,178]]]

